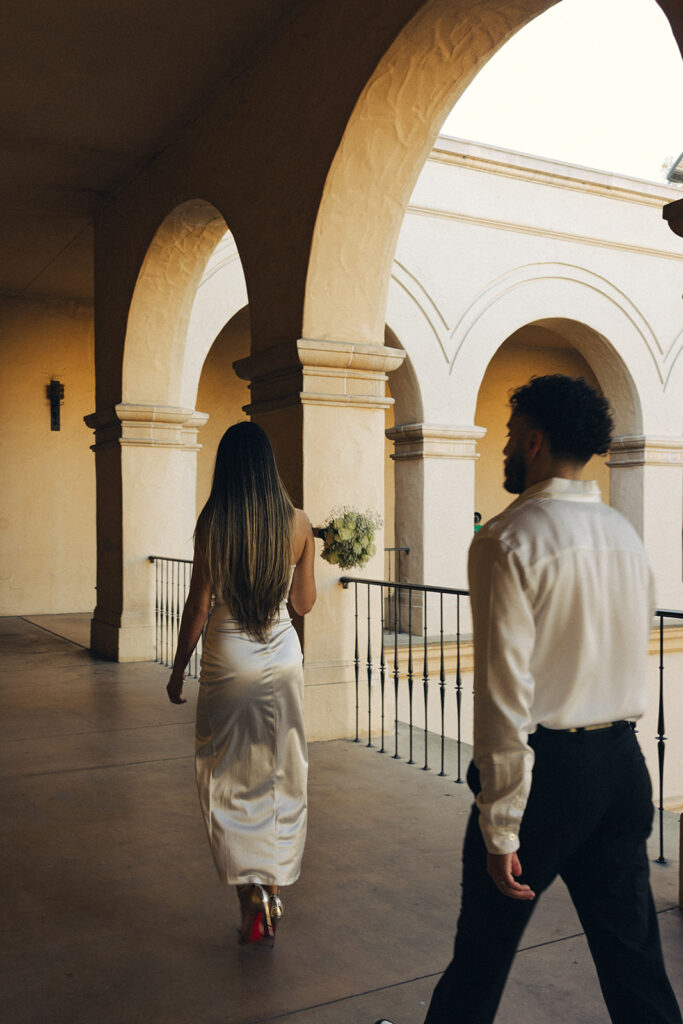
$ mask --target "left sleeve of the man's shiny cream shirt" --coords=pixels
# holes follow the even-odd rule
[[[489,853],[512,853],[519,848],[533,767],[527,738],[535,690],[529,670],[535,620],[523,566],[495,535],[480,532],[473,541],[469,586],[479,825]]]

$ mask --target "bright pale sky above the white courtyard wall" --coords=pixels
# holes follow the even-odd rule
[[[562,0],[482,68],[442,132],[651,181],[683,151],[683,60],[654,0]]]

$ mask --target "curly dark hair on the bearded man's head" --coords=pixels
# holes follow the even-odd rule
[[[544,431],[556,459],[585,463],[609,449],[614,428],[609,404],[583,377],[532,377],[512,392],[510,406],[513,415]]]

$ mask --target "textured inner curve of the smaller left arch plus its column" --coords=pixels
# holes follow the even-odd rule
[[[191,554],[197,432],[206,417],[183,403],[183,370],[198,287],[225,231],[203,200],[164,218],[132,292],[116,420],[87,420],[96,430],[97,472],[91,647],[118,660],[154,657],[148,556]]]

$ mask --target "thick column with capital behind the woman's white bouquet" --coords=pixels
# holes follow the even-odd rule
[[[403,358],[383,345],[303,338],[234,364],[250,382],[246,412],[267,431],[292,500],[313,525],[340,505],[382,512],[386,380]],[[380,534],[377,555],[352,574],[381,579],[383,546]],[[350,735],[354,726],[353,592],[340,586],[342,574],[316,557],[317,602],[301,630],[311,739]]]

